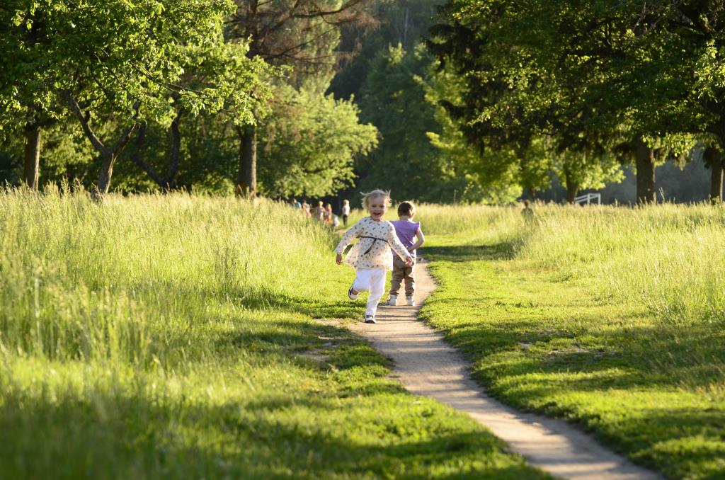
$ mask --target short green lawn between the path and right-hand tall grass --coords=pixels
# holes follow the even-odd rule
[[[577,423],[670,478],[725,478],[721,323],[663,323],[480,231],[428,245],[439,288],[421,317],[491,394]]]

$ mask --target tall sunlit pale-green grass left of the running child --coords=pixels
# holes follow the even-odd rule
[[[323,228],[260,201],[0,193],[0,349],[49,360],[178,359],[210,299],[312,292]],[[290,265],[294,264],[294,268]]]

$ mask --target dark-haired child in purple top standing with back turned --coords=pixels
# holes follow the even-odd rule
[[[415,260],[415,250],[421,247],[426,239],[423,237],[423,231],[421,231],[421,223],[413,222],[413,217],[415,217],[413,202],[402,202],[398,206],[398,218],[400,220],[391,223],[395,228],[398,239]],[[413,237],[415,237],[415,243],[413,243]],[[404,264],[398,257],[393,257],[393,276],[390,281],[388,305],[395,305],[398,301],[398,290],[403,280],[405,280],[405,299],[407,304],[412,307],[414,305],[413,295],[415,294],[413,265]]]

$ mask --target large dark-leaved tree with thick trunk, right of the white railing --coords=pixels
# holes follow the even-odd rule
[[[674,133],[682,81],[673,68],[683,62],[676,44],[651,36],[658,9],[640,7],[449,1],[429,45],[467,79],[466,106],[452,112],[466,120],[471,141],[525,148],[543,135],[580,158],[634,157],[639,200],[653,201],[650,144]],[[589,165],[603,171],[579,167]]]

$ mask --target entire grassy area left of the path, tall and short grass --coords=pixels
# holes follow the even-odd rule
[[[0,478],[542,478],[347,330],[272,202],[0,194]]]

